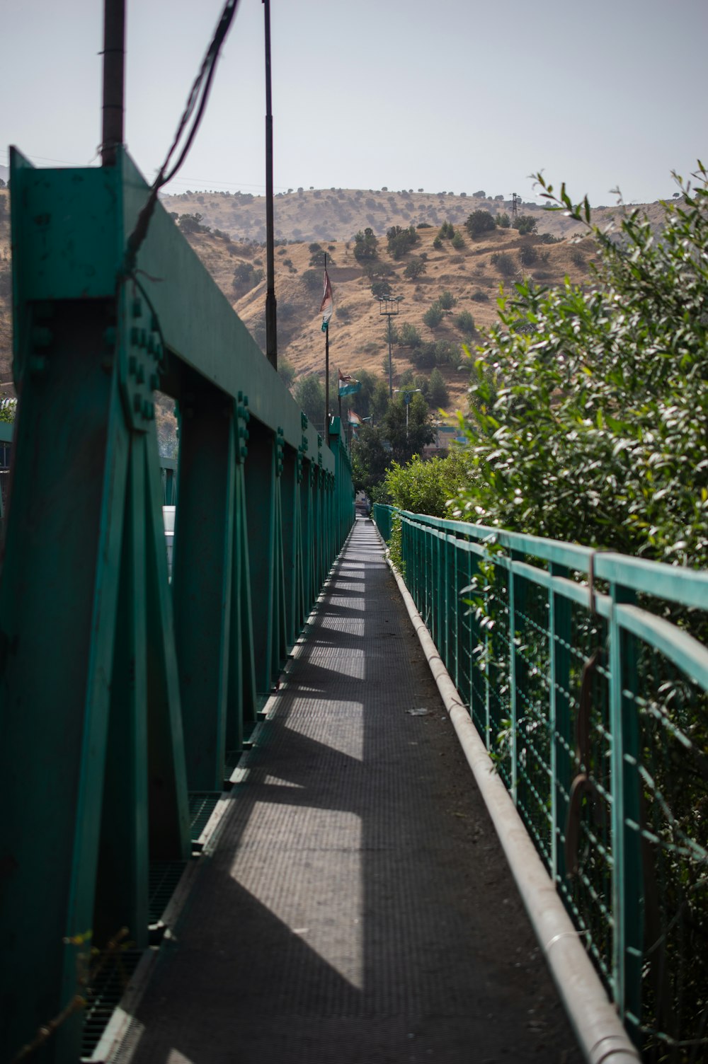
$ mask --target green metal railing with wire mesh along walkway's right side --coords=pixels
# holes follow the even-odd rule
[[[708,1060],[708,572],[375,508],[646,1061]]]

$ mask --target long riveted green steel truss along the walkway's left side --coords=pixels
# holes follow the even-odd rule
[[[322,446],[160,205],[122,275],[148,195],[125,152],[35,170],[13,151],[12,184],[1,1060],[80,993],[92,944],[147,944],[149,865],[190,857],[188,788],[221,788],[353,520],[339,437]],[[81,1026],[43,1060],[75,1062]]]

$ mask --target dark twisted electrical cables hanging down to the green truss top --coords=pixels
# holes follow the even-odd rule
[[[145,240],[148,227],[150,225],[150,219],[152,217],[155,203],[158,202],[158,193],[163,185],[171,181],[177,171],[182,166],[182,163],[187,156],[190,148],[194,143],[194,138],[197,135],[197,130],[203,118],[204,111],[207,107],[207,101],[209,100],[209,94],[212,86],[212,81],[214,78],[214,71],[216,70],[216,61],[219,56],[221,50],[221,45],[224,44],[227,33],[233,21],[233,16],[236,13],[236,7],[238,5],[238,0],[226,0],[224,10],[221,12],[221,17],[219,18],[218,24],[212,37],[211,44],[207,49],[207,54],[202,61],[201,67],[199,68],[199,73],[194,80],[192,85],[192,90],[187,98],[186,106],[182,113],[179,124],[177,127],[177,133],[175,134],[175,139],[167,152],[167,156],[160,167],[158,177],[154,179],[151,187],[150,194],[147,198],[145,206],[137,216],[137,221],[135,222],[135,228],[128,237],[128,244],[126,247],[126,259],[124,262],[124,276],[130,276],[133,273],[135,268],[135,262],[137,259],[137,252],[139,251],[143,242]],[[196,111],[196,115],[195,115]],[[175,152],[177,151],[178,145],[182,139],[184,130],[186,129],[190,119],[195,115],[192,127],[187,132],[186,140],[184,147],[182,148],[179,157],[172,168],[168,170],[170,160]]]

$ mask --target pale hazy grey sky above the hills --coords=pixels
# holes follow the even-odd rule
[[[2,0],[0,163],[85,165],[100,138],[101,0]],[[129,150],[152,179],[221,0],[128,0]],[[271,0],[276,192],[671,196],[708,162],[708,0]],[[168,190],[264,190],[263,5],[241,0]]]

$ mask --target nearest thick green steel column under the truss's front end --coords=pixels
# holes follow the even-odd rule
[[[128,463],[113,360],[101,368],[111,313],[45,305],[16,336],[0,581],[0,796],[12,814],[0,842],[2,1060],[78,992],[87,947],[63,940],[94,922]],[[78,1055],[80,1026],[64,1025],[52,1053]]]

